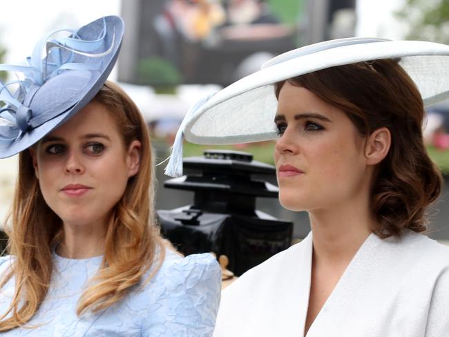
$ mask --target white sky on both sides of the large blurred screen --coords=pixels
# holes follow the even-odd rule
[[[146,0],[151,1],[151,0]],[[330,0],[332,1],[332,0]],[[403,0],[357,0],[358,36],[400,39],[392,11]],[[120,15],[121,0],[1,1],[0,43],[8,49],[6,62],[30,55],[41,35],[57,28],[76,28],[105,15]]]

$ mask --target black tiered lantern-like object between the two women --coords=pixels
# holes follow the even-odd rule
[[[186,175],[164,186],[194,191],[193,204],[157,211],[162,233],[182,253],[225,255],[240,276],[290,246],[293,223],[256,210],[256,198],[277,198],[278,187],[251,177],[273,176],[274,166],[249,153],[209,150],[185,158],[183,168]]]

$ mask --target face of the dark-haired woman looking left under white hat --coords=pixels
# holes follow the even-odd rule
[[[342,110],[288,82],[275,117],[280,203],[292,211],[327,209],[361,198],[370,175],[364,139]]]

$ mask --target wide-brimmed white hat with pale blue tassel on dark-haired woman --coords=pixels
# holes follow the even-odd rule
[[[417,85],[425,106],[449,98],[449,46],[444,44],[372,38],[312,44],[274,57],[258,72],[195,104],[175,137],[166,175],[182,175],[183,139],[211,145],[276,139],[276,82],[376,59],[399,59],[399,65]]]

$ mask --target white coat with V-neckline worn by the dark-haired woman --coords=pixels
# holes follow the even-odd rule
[[[303,337],[312,233],[222,293],[214,337]],[[307,337],[449,337],[449,247],[406,230],[371,234]]]

